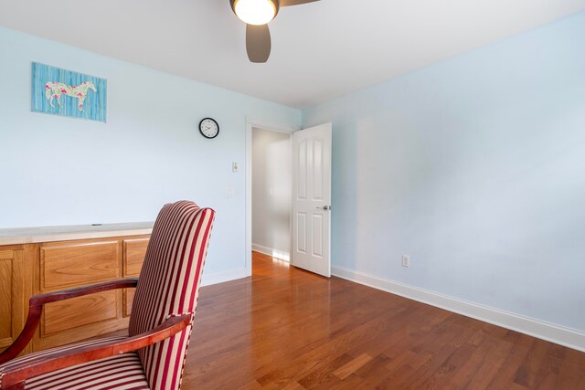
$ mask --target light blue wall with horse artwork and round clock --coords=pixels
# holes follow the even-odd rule
[[[107,123],[31,112],[32,61],[107,79]],[[0,85],[0,227],[148,221],[192,199],[218,212],[206,275],[243,270],[246,117],[299,126],[301,111],[3,27]]]

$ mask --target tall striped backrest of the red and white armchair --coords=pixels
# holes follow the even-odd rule
[[[134,295],[129,333],[152,330],[173,315],[195,314],[215,211],[180,201],[156,217]],[[178,389],[193,323],[138,351],[151,389]]]

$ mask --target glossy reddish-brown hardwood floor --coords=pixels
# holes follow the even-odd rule
[[[585,389],[585,353],[253,259],[201,289],[184,389]]]

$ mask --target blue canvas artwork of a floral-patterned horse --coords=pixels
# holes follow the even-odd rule
[[[32,111],[106,121],[107,80],[33,62]]]

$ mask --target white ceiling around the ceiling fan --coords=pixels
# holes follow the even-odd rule
[[[229,0],[0,0],[0,25],[305,108],[585,10],[585,0],[321,0],[283,7],[251,64]]]

